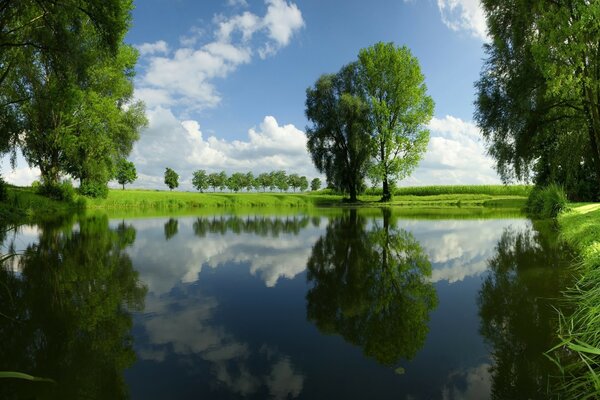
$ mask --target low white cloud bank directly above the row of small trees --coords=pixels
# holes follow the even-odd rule
[[[283,169],[308,178],[320,176],[306,151],[306,135],[294,125],[280,125],[266,116],[248,130],[244,140],[226,141],[204,137],[197,121],[180,121],[169,109],[147,112],[149,127],[142,132],[130,159],[138,170],[134,187],[163,186],[166,167],[181,177],[180,188],[192,189],[193,171],[260,172]]]

